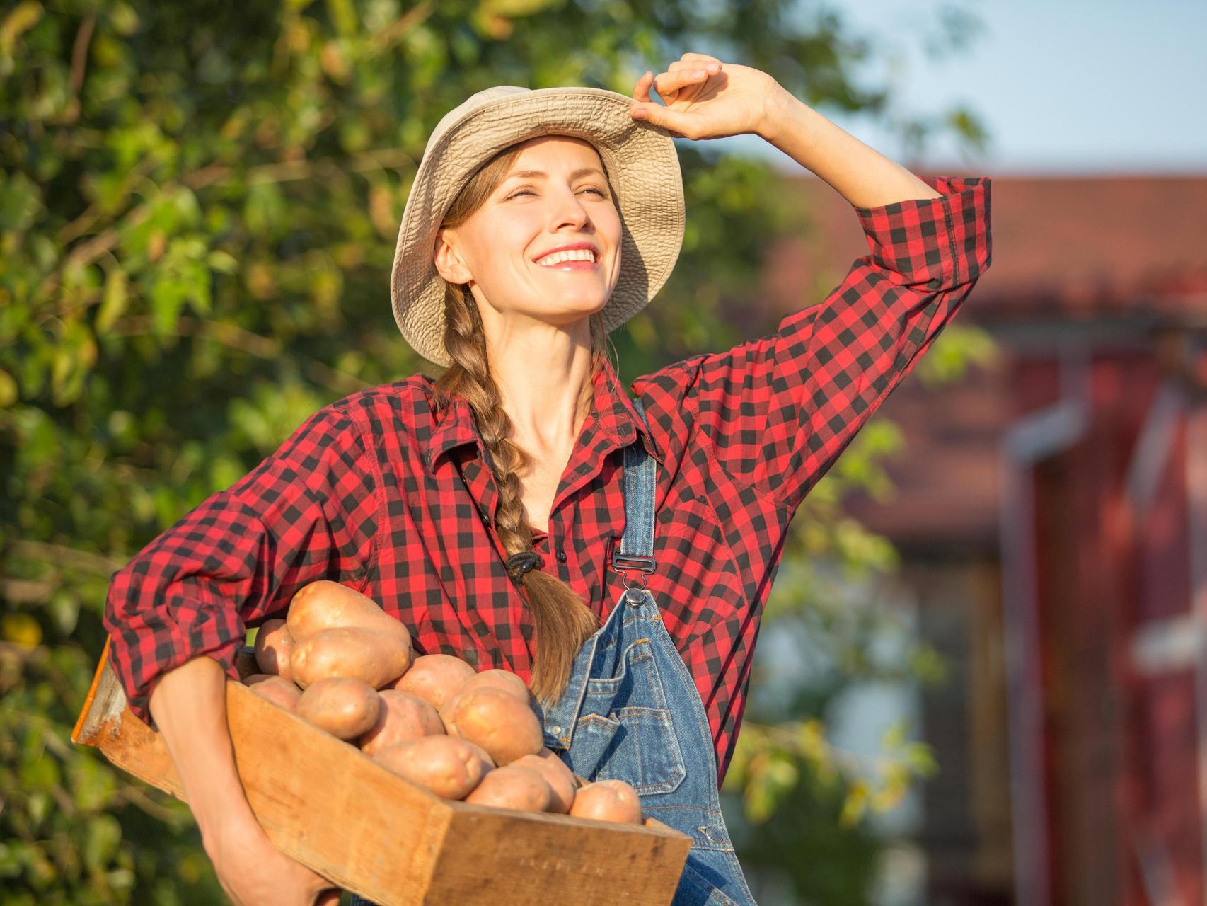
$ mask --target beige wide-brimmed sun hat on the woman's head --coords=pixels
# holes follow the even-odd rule
[[[649,303],[683,244],[683,178],[671,134],[629,116],[634,103],[604,88],[498,85],[444,115],[407,198],[390,274],[393,316],[415,352],[437,365],[453,362],[444,349],[444,280],[432,260],[449,205],[495,152],[536,135],[590,141],[616,193],[620,273],[604,307],[605,330]]]

